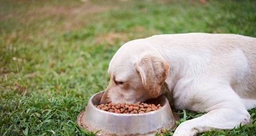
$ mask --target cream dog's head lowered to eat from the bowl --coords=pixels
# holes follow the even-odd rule
[[[101,103],[136,103],[161,94],[169,63],[155,54],[136,57],[125,49],[119,49],[109,63],[110,82]]]

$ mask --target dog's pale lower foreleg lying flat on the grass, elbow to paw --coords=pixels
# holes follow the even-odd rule
[[[201,117],[182,122],[174,136],[190,136],[208,131],[210,129],[233,129],[240,123],[245,125],[250,122],[250,114],[236,112],[233,109],[215,109]]]

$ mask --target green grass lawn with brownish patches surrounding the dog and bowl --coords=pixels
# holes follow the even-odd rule
[[[76,124],[116,50],[161,33],[256,37],[255,1],[0,1],[0,135],[94,135]],[[201,135],[255,135],[253,122]],[[182,121],[202,113],[177,111]],[[174,130],[165,135],[171,135]]]

